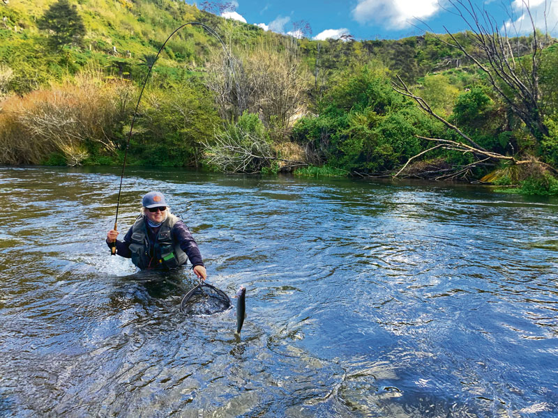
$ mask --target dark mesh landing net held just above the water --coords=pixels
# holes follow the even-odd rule
[[[186,315],[212,315],[226,311],[231,300],[226,293],[211,284],[198,284],[186,293],[180,303],[180,311]]]

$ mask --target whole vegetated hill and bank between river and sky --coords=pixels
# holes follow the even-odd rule
[[[412,159],[408,176],[555,187],[558,48],[537,31],[317,41],[172,0],[2,0],[0,18],[3,163],[118,163],[137,115],[131,164],[369,176]],[[155,63],[188,22],[230,55],[189,25]]]

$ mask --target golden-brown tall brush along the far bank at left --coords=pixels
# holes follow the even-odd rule
[[[135,92],[124,81],[87,72],[73,82],[13,96],[0,103],[0,163],[40,164],[59,153],[68,165],[91,153],[114,153],[114,132],[132,109]]]

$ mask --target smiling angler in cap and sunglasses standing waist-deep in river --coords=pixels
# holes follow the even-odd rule
[[[116,254],[132,258],[132,263],[142,270],[170,270],[190,259],[196,276],[202,280],[207,277],[202,254],[188,226],[172,215],[163,193],[147,193],[142,199],[142,214],[123,241],[116,239],[118,234],[111,229],[107,245],[112,248],[116,241]]]

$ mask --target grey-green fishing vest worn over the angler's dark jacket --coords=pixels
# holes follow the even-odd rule
[[[169,214],[161,224],[155,242],[149,242],[147,224],[143,216],[136,219],[132,226],[130,251],[132,263],[142,270],[147,268],[171,269],[186,263],[188,256],[180,248],[180,242],[172,240],[172,227],[180,219]],[[149,254],[152,249],[153,253]]]

